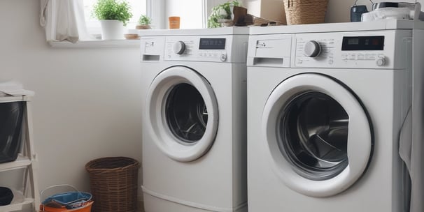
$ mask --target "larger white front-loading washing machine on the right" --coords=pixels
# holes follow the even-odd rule
[[[413,26],[250,29],[249,212],[409,211]]]

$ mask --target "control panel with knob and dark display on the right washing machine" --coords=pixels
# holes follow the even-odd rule
[[[405,35],[397,31],[298,33],[295,36],[294,67],[311,68],[402,68]],[[395,51],[396,50],[396,51]],[[396,56],[395,56],[396,54]]]

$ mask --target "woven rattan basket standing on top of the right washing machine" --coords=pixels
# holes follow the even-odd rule
[[[328,0],[284,0],[287,24],[319,24],[325,19]]]

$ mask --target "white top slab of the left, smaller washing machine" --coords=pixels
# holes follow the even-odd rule
[[[248,35],[248,27],[220,27],[209,29],[142,29],[139,36],[221,36]]]

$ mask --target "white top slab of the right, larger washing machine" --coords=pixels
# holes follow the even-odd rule
[[[414,20],[387,19],[374,22],[344,22],[331,24],[299,24],[274,27],[250,27],[250,35],[275,33],[378,31],[388,29],[424,29],[424,22]]]

